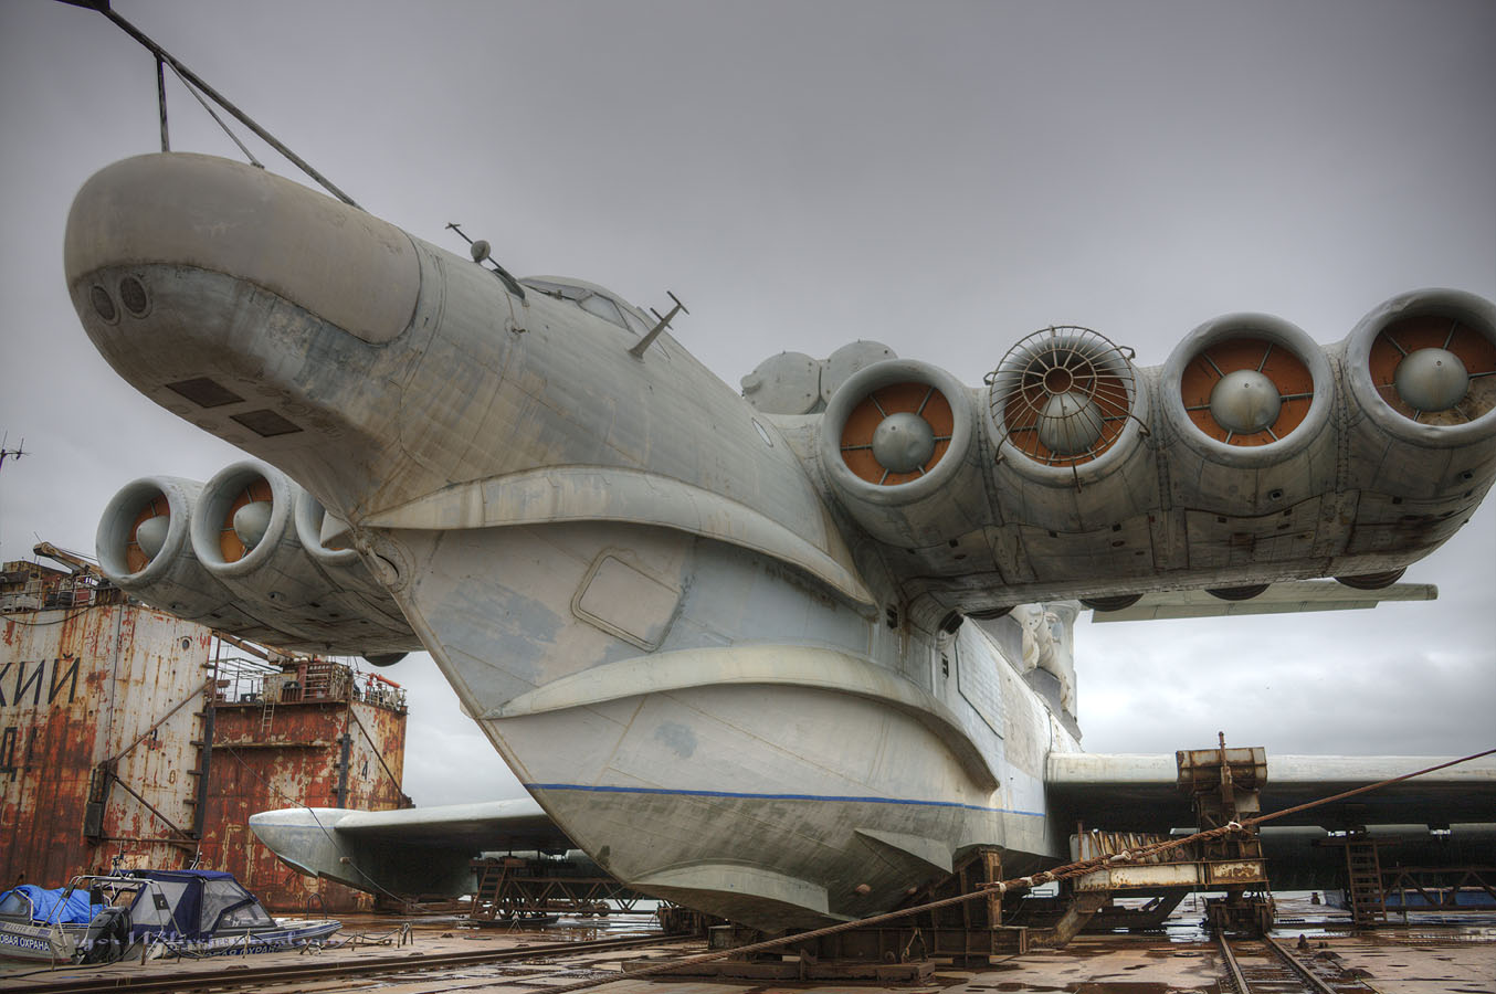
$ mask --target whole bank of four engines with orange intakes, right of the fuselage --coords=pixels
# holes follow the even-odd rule
[[[1394,297],[1331,347],[1264,314],[1216,318],[1159,368],[1050,327],[986,390],[919,362],[862,369],[820,417],[815,463],[932,620],[1324,575],[1372,589],[1490,487],[1493,374],[1496,309],[1454,290]],[[799,396],[779,386],[747,396]]]

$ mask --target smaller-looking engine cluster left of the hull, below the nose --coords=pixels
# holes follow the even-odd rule
[[[115,586],[215,631],[302,652],[393,662],[420,647],[352,549],[322,540],[326,513],[284,474],[236,462],[206,484],[129,483],[96,540]]]

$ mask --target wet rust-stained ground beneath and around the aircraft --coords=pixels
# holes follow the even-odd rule
[[[1373,994],[1496,994],[1496,915],[1409,916],[1373,933],[1355,934],[1346,913],[1313,904],[1308,894],[1281,895],[1279,927],[1275,937],[1300,957],[1312,958],[1316,970],[1331,979],[1363,979],[1361,987],[1345,990]],[[597,979],[603,985],[592,990],[603,994],[1212,994],[1231,990],[1224,981],[1215,940],[1200,925],[1203,906],[1186,900],[1162,931],[1150,934],[1082,936],[1064,949],[1040,949],[1022,957],[995,958],[984,970],[938,969],[934,979],[920,985],[880,987],[866,984],[784,984],[752,981],[655,981],[606,979],[622,969],[624,960],[660,958],[699,952],[700,943],[681,946],[660,936],[660,946],[628,951],[577,949],[576,954],[548,954],[527,963],[479,964],[417,973],[332,979],[325,982],[257,990],[341,991],[368,990],[381,994],[543,994],[546,988],[565,987],[577,981]],[[570,919],[539,928],[477,928],[461,916],[411,919],[410,933],[402,934],[404,919],[390,916],[346,916],[340,933],[341,948],[320,954],[266,954],[235,960],[202,960],[186,963],[139,963],[105,967],[109,973],[157,972],[221,972],[233,969],[295,964],[307,955],[319,960],[359,957],[410,957],[411,967],[425,957],[477,949],[507,949],[546,946],[558,942],[591,942],[627,934],[658,934],[651,918]],[[1300,936],[1303,940],[1300,942]],[[401,945],[404,942],[404,945]],[[305,960],[301,960],[305,961]],[[34,966],[21,966],[30,981],[15,972],[0,975],[0,993],[16,984],[40,979],[61,981],[84,976],[82,972],[36,973]],[[100,970],[88,970],[99,976]]]

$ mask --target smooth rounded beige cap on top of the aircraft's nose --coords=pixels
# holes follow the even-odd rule
[[[405,330],[420,288],[398,227],[263,169],[184,152],[94,173],[67,217],[64,266],[85,321],[145,318],[150,290],[132,269],[171,266],[269,290],[370,344]]]

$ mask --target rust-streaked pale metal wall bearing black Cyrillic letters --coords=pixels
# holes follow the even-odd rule
[[[208,629],[118,604],[22,611],[3,625],[0,882],[55,886],[117,858],[181,865],[202,707],[166,711],[200,691]],[[90,842],[90,782],[97,800],[108,759],[117,782],[93,812]]]

